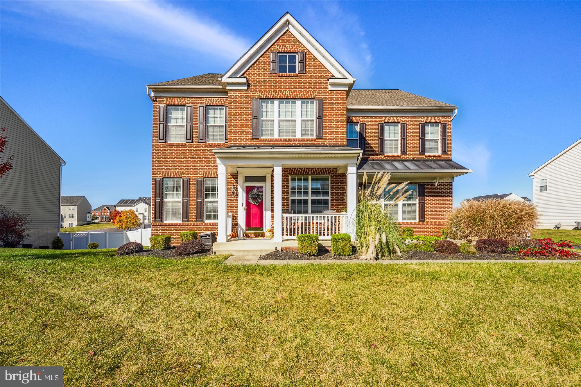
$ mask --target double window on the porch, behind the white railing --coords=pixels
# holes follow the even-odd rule
[[[331,194],[328,176],[291,176],[290,211],[320,214],[329,210]]]

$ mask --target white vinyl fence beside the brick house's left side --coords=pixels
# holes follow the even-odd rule
[[[99,243],[99,249],[116,249],[127,242],[139,242],[149,246],[151,228],[139,228],[121,232],[59,232],[65,250],[82,250],[92,242]]]

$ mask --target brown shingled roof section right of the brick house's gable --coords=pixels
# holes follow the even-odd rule
[[[398,89],[353,89],[347,107],[450,107],[456,106]]]

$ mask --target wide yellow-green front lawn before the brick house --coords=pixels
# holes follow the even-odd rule
[[[66,386],[581,384],[580,263],[224,259],[0,249],[0,364]]]

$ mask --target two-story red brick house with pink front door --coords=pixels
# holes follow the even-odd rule
[[[152,235],[274,230],[273,242],[354,235],[363,173],[414,191],[401,226],[439,234],[452,209],[457,107],[356,79],[289,13],[224,74],[147,85],[153,103]],[[385,195],[389,201],[389,194]]]

